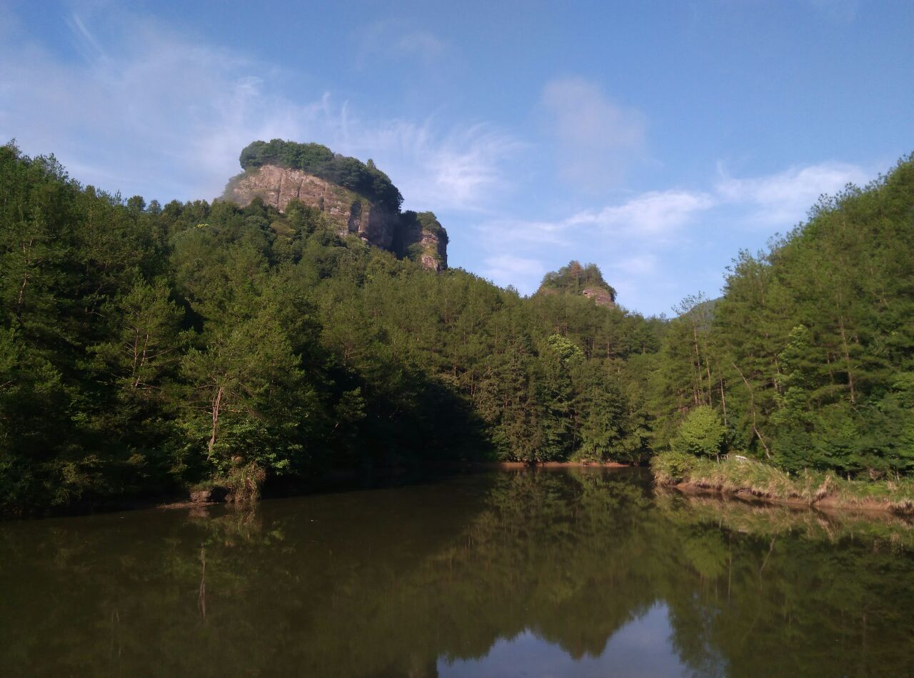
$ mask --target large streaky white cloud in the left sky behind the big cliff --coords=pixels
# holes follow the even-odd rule
[[[324,91],[292,101],[302,74],[143,17],[74,14],[68,26],[82,59],[0,44],[0,138],[54,152],[74,177],[124,195],[211,199],[239,172],[241,148],[281,137],[373,157],[409,207],[479,210],[506,188],[501,165],[520,147],[485,124],[363,118]]]

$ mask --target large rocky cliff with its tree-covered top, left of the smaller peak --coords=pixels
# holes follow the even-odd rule
[[[269,155],[262,150],[267,148],[269,151],[270,145],[278,145],[284,155]],[[363,165],[355,158],[335,156],[320,145],[277,140],[270,145],[254,142],[242,151],[241,163],[245,171],[228,182],[223,199],[243,206],[252,199],[260,198],[281,212],[292,200],[301,200],[324,212],[335,222],[340,235],[356,234],[369,244],[401,258],[409,258],[430,270],[447,268],[447,231],[432,212],[400,212],[399,191],[370,160]],[[260,151],[261,161],[250,161],[252,148]],[[309,163],[310,158],[298,162],[307,169],[286,167],[296,164],[295,156],[288,152],[289,148],[299,153],[314,153],[314,148],[317,148],[330,156],[329,159],[322,156],[321,162]],[[374,179],[374,183],[366,181],[366,176]],[[347,188],[344,183],[361,190]],[[378,185],[381,188],[377,188]],[[391,193],[398,199],[386,199]]]

